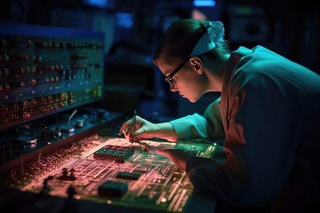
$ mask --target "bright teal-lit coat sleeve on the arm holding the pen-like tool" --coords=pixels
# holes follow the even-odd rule
[[[170,123],[177,133],[177,139],[188,141],[193,139],[206,139],[210,141],[224,139],[221,112],[218,105],[220,98],[211,103],[204,111],[203,115],[194,113]]]

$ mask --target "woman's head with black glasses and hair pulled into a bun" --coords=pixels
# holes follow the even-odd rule
[[[224,40],[222,22],[179,19],[160,40],[153,63],[166,76],[172,91],[196,102],[212,89],[209,88],[209,63],[222,61],[226,54],[230,54],[230,49],[228,41]],[[204,64],[208,72],[204,72]]]

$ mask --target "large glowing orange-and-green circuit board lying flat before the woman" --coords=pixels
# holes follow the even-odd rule
[[[129,143],[125,138],[95,134],[48,156],[39,156],[34,162],[25,163],[24,169],[14,168],[6,177],[2,174],[2,187],[5,185],[35,194],[45,191],[48,195],[63,198],[70,196],[72,190],[77,200],[150,211],[184,212],[192,197],[193,185],[184,171],[169,158],[158,155],[156,150],[172,147],[212,158],[215,146],[153,140],[142,142],[150,151],[143,150],[141,144]],[[124,151],[122,160],[114,157],[117,154],[108,155],[110,150],[115,153]],[[103,153],[105,157],[97,158],[97,153]]]

